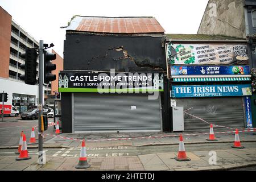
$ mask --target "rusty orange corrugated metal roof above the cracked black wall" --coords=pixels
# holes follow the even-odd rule
[[[67,30],[113,34],[163,33],[154,17],[94,17],[76,16]]]

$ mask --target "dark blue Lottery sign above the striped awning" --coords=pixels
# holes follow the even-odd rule
[[[250,75],[249,65],[170,66],[171,75]]]

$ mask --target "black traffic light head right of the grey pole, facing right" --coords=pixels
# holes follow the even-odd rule
[[[44,52],[44,84],[49,84],[50,81],[56,80],[56,75],[51,74],[56,69],[56,64],[50,62],[55,59],[55,53]]]

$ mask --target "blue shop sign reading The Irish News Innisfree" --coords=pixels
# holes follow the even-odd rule
[[[171,97],[251,96],[251,85],[175,85]]]

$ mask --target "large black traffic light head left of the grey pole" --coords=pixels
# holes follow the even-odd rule
[[[27,48],[25,53],[20,54],[20,57],[25,59],[25,64],[20,64],[20,68],[25,70],[25,75],[20,75],[20,79],[25,81],[25,84],[36,84],[36,57],[35,48]]]

